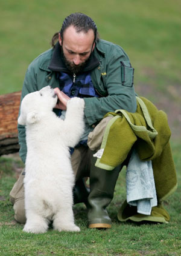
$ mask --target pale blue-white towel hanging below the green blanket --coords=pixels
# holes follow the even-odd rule
[[[127,203],[137,206],[139,214],[150,215],[157,206],[151,161],[141,161],[134,149],[126,172]]]

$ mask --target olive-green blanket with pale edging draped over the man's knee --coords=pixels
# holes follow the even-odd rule
[[[107,113],[106,116],[108,115],[112,115],[113,118],[107,124],[101,144],[101,155],[95,166],[106,170],[114,169],[123,163],[134,146],[141,160],[152,161],[157,200],[161,203],[177,187],[176,170],[169,143],[171,131],[166,113],[157,110],[148,99],[137,97],[135,113],[116,110],[114,113]],[[125,212],[123,208],[122,206],[119,211],[119,220],[133,219],[133,216],[135,221],[148,220],[148,218],[151,220],[153,215],[159,217],[160,214],[160,206],[154,208],[151,216],[141,215],[141,217],[135,215],[135,211],[130,207],[127,217],[121,217],[121,213],[128,212],[127,206]],[[168,216],[168,213],[162,206],[162,220],[165,221],[160,222],[168,222],[169,218],[165,216]]]

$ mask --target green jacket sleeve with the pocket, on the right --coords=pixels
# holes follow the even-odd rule
[[[89,125],[97,123],[107,112],[114,112],[116,109],[136,111],[136,95],[133,85],[134,69],[124,52],[118,49],[113,52],[110,52],[110,58],[106,60],[106,78],[104,77],[103,86],[107,91],[107,96],[84,98],[84,113]]]

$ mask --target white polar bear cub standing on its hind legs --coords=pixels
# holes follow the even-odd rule
[[[57,95],[50,86],[29,93],[21,103],[18,123],[26,126],[25,232],[44,233],[49,221],[57,231],[80,231],[72,211],[74,173],[69,147],[84,130],[84,100],[68,101],[65,120],[52,109]]]

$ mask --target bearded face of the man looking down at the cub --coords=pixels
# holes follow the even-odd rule
[[[90,54],[94,50],[94,31],[77,33],[73,26],[63,33],[63,41],[59,34],[59,43],[62,46],[66,67],[72,73],[78,73],[86,66]]]

